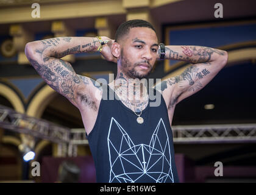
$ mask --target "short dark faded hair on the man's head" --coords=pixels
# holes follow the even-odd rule
[[[129,30],[134,27],[148,27],[149,29],[152,29],[155,31],[155,28],[148,21],[145,21],[143,19],[128,20],[123,24],[121,24],[116,30],[115,42],[118,42],[120,38],[122,38],[124,35],[127,35],[129,33]],[[155,31],[155,33],[157,32]]]

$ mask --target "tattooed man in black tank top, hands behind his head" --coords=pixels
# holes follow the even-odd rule
[[[117,76],[105,90],[60,59],[96,51],[117,63]],[[98,182],[179,182],[171,132],[174,108],[201,90],[227,63],[227,52],[219,49],[159,46],[154,27],[139,19],[121,24],[115,41],[59,37],[27,43],[25,52],[45,82],[79,108]],[[194,65],[163,80],[156,91],[141,81],[157,59]],[[158,106],[150,106],[151,91],[160,94]],[[103,98],[105,93],[114,93],[117,98]]]

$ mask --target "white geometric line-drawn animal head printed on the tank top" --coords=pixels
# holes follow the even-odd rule
[[[160,133],[162,133],[161,143],[158,138]],[[112,135],[115,135],[115,140]],[[146,177],[156,183],[174,182],[169,138],[162,118],[155,127],[150,143],[135,145],[123,127],[112,117],[107,143],[110,183],[133,183]],[[127,166],[133,171],[127,170]]]

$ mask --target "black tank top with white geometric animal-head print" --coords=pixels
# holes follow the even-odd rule
[[[105,88],[103,93],[113,97],[114,91],[108,85]],[[160,97],[158,107],[150,107],[149,99],[141,113],[142,124],[121,101],[101,99],[88,135],[97,182],[179,182],[168,111]]]

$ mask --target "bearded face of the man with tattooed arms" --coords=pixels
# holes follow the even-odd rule
[[[157,35],[148,27],[134,27],[121,41],[121,69],[127,76],[143,79],[157,59]]]

